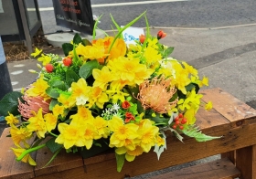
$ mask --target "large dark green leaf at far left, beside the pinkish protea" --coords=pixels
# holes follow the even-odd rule
[[[22,94],[17,91],[9,92],[5,94],[4,98],[0,100],[0,116],[7,116],[8,111],[14,116],[19,114],[17,111],[18,99],[22,100]]]

